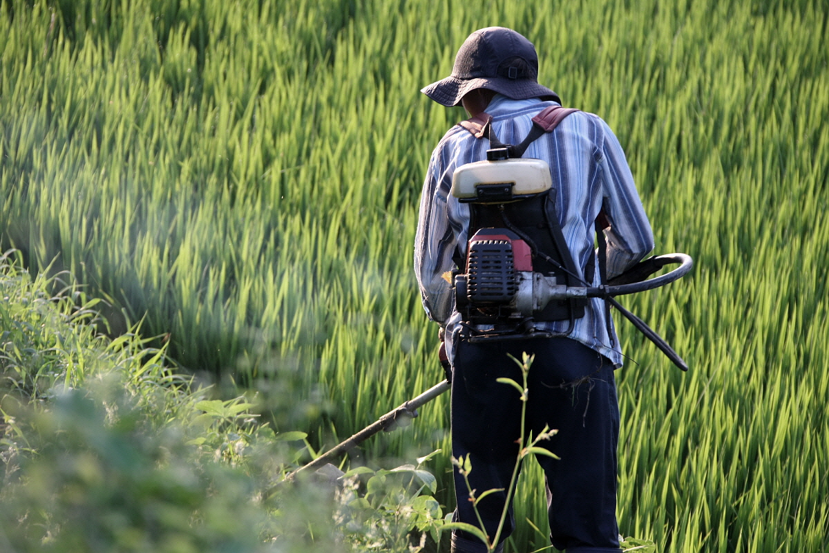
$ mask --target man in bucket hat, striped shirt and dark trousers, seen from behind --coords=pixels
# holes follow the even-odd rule
[[[473,341],[476,325],[464,323],[458,313],[448,278],[456,266],[463,269],[459,265],[471,237],[470,205],[450,193],[453,172],[485,159],[487,149],[496,145],[494,138],[503,144],[521,143],[534,115],[560,105],[558,95],[540,85],[537,75],[536,49],[530,41],[510,29],[487,27],[464,41],[452,75],[422,90],[439,104],[463,104],[471,117],[488,122],[489,129],[476,135],[468,125],[455,126],[434,149],[420,203],[414,268],[424,308],[439,323],[451,361],[453,457],[471,460],[468,478],[477,496],[509,486],[519,453],[521,401],[516,390],[496,379],[521,382],[520,367],[507,354],[517,359],[522,352],[533,354],[525,435],[538,435],[545,424],[558,429],[541,445],[560,459],[538,458],[545,471],[552,544],[568,553],[620,551],[615,514],[619,415],[613,370],[622,365],[622,354],[604,301],[584,300],[586,305],[569,318],[534,321],[536,333],[529,339],[516,335]],[[651,227],[623,150],[599,117],[568,114],[552,132],[531,142],[524,157],[543,159],[550,166],[550,210],[579,279],[597,286],[603,269],[605,278],[613,278],[652,250]],[[597,218],[606,241],[601,260],[594,251]],[[454,520],[478,526],[457,469],[455,492]],[[487,535],[495,535],[507,502],[511,498],[506,492],[497,492],[478,503]],[[510,507],[502,539],[514,524]],[[477,538],[457,531],[452,548],[486,551]]]

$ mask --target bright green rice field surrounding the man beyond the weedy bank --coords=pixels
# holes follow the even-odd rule
[[[617,133],[657,253],[696,261],[623,298],[691,371],[618,319],[621,531],[827,551],[829,9],[580,4],[3,0],[0,244],[331,446],[442,376],[412,245],[429,153],[465,115],[419,89],[469,32],[516,28],[540,81]],[[447,408],[352,460],[440,448],[445,488]],[[511,551],[548,544],[539,478]]]

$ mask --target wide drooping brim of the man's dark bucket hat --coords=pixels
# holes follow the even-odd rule
[[[463,96],[475,89],[494,90],[498,94],[511,99],[542,98],[561,103],[559,95],[532,79],[507,79],[504,77],[458,79],[450,75],[443,80],[425,86],[420,92],[434,99],[438,104],[450,108],[459,105]]]

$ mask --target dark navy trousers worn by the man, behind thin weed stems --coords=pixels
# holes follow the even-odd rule
[[[560,459],[539,455],[544,469],[550,539],[569,553],[621,551],[616,522],[616,446],[618,400],[612,364],[599,353],[569,338],[534,338],[507,342],[458,342],[452,379],[452,453],[469,455],[469,483],[484,497],[478,512],[487,534],[494,536],[507,502],[519,454],[521,400],[518,391],[496,381],[508,377],[521,384],[521,360],[535,354],[528,376],[525,436],[545,424],[558,429],[538,445]],[[455,469],[458,508],[454,518],[478,526],[468,489]],[[517,498],[521,501],[521,497]],[[502,539],[515,528],[510,502]],[[453,535],[453,551],[486,551],[481,541],[463,532]]]

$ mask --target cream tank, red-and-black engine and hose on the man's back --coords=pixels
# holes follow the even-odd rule
[[[452,195],[459,201],[482,205],[503,205],[521,202],[549,193],[552,187],[550,168],[541,159],[511,159],[501,150],[489,150],[487,161],[468,163],[453,174]],[[602,286],[591,286],[565,266],[534,247],[534,240],[502,217],[505,228],[482,228],[468,243],[466,272],[455,274],[455,301],[464,321],[473,323],[512,323],[519,332],[482,333],[483,339],[516,339],[536,337],[545,332],[531,330],[533,318],[544,313],[550,302],[603,298],[617,308],[649,340],[654,342],[682,371],[688,366],[676,352],[648,327],[642,319],[624,308],[614,296],[644,292],[669,284],[688,273],[693,266],[690,255],[668,254],[653,256],[635,265]],[[553,229],[558,230],[560,229]],[[600,255],[604,252],[604,235],[597,229]],[[563,240],[563,237],[560,239]],[[553,240],[554,242],[556,240]],[[534,270],[533,253],[559,269],[557,276],[547,276]],[[662,267],[679,264],[667,274],[647,279]],[[564,284],[561,274],[580,285]],[[521,332],[521,327],[524,331]],[[472,337],[475,340],[476,337]]]

